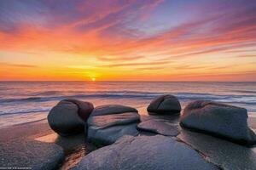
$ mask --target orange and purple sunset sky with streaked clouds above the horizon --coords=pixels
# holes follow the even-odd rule
[[[256,81],[256,0],[1,0],[0,81]]]

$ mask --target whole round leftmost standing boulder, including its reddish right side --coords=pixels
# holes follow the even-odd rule
[[[92,104],[74,99],[65,99],[49,111],[49,126],[61,135],[84,131],[86,120],[93,110]]]

